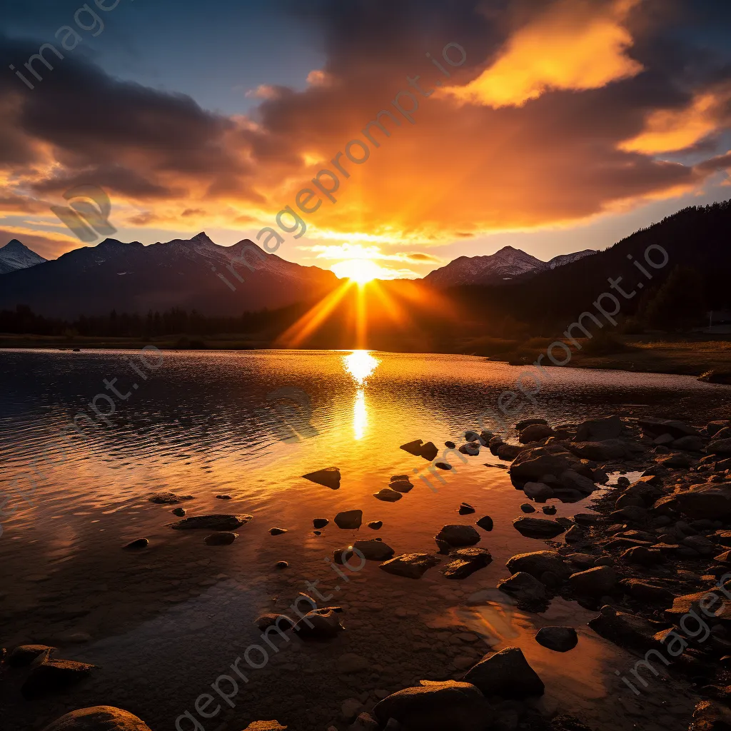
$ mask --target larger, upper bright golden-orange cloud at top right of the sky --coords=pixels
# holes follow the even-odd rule
[[[518,30],[474,81],[446,91],[461,102],[520,106],[552,89],[585,91],[635,76],[643,67],[626,54],[632,35],[623,23],[638,1],[561,0]]]

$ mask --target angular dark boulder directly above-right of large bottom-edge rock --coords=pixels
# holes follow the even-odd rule
[[[464,679],[488,696],[526,698],[542,695],[545,690],[543,681],[517,647],[505,648],[480,660],[467,671]]]

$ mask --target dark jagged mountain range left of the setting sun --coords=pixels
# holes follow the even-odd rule
[[[246,254],[250,267],[232,264],[245,247],[255,249],[249,248]],[[216,245],[205,233],[151,246],[107,239],[98,246],[69,251],[42,267],[2,275],[0,308],[24,304],[54,317],[173,307],[234,315],[286,306],[337,283],[330,271],[286,262],[249,240],[227,247]]]

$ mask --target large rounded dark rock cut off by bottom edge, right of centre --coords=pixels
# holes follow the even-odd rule
[[[386,724],[395,719],[404,731],[484,731],[491,721],[482,693],[471,683],[458,681],[422,681],[385,697],[373,713],[382,727],[393,728]]]

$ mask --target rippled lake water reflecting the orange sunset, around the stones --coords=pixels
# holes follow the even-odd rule
[[[545,681],[542,705],[596,729],[672,729],[689,719],[694,699],[670,681],[653,679],[639,699],[622,685],[615,670],[626,673],[635,659],[586,627],[592,613],[556,599],[545,615],[529,615],[495,590],[508,575],[507,558],[545,548],[512,528],[525,496],[504,469],[485,466],[499,460],[486,450],[469,459],[451,452],[443,458],[455,469],[433,474],[398,448],[417,438],[441,447],[445,439],[459,443],[466,428],[499,428],[485,414],[499,414],[497,399],[520,368],[476,357],[360,351],[145,358],[152,367],[138,352],[0,353],[0,500],[4,494],[4,511],[14,511],[1,519],[1,640],[52,643],[59,656],[100,666],[80,686],[42,701],[24,702],[17,688],[6,687],[11,728],[42,727],[71,708],[105,703],[137,713],[153,731],[175,728],[186,711],[206,731],[240,731],[259,718],[325,729],[342,722],[347,698],[368,702],[376,690],[458,677],[488,648],[507,645],[523,648]],[[576,422],[614,409],[652,414],[654,404],[692,393],[711,401],[724,388],[685,376],[568,368],[546,375],[536,404],[521,399],[526,409],[510,425],[529,416]],[[102,382],[115,378],[118,395]],[[89,409],[97,393],[110,396],[96,399],[108,417]],[[309,401],[311,414],[303,419],[287,396]],[[80,433],[68,428],[75,417]],[[341,470],[338,491],[300,477],[327,466]],[[374,499],[392,474],[411,474],[414,489],[393,504]],[[170,506],[147,500],[160,491],[194,496],[184,504],[188,515],[254,519],[232,545],[208,547],[208,531],[167,527],[176,520]],[[216,499],[221,493],[231,499]],[[477,515],[457,514],[463,500]],[[332,521],[355,508],[363,510],[360,531],[331,522],[322,536],[313,534],[313,518]],[[589,501],[559,503],[558,515],[590,508]],[[486,514],[496,527],[480,545],[493,563],[467,580],[446,580],[435,568],[412,581],[368,562],[345,581],[327,563],[336,548],[376,535],[397,554],[431,553],[444,523],[474,523]],[[384,522],[378,533],[365,526],[375,519]],[[288,532],[271,536],[273,526]],[[141,536],[148,549],[121,550]],[[274,569],[279,560],[289,567]],[[286,610],[313,581],[333,593],[322,603],[344,607],[347,632],[326,645],[296,641],[270,651],[233,705],[221,702],[212,719],[196,716],[196,697],[257,641],[258,613]],[[545,624],[576,626],[577,648],[558,655],[537,645],[535,629]],[[75,643],[74,633],[88,640]],[[458,636],[465,633],[474,640]],[[342,673],[338,662],[348,653],[365,657],[368,667]],[[192,727],[181,721],[183,731]]]

